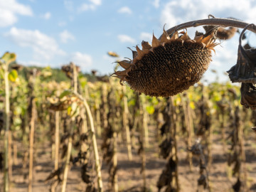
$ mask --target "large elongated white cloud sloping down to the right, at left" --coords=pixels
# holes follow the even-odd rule
[[[31,31],[12,27],[5,36],[18,46],[32,48],[35,53],[35,55],[33,55],[34,58],[50,60],[55,55],[66,54],[63,50],[58,48],[58,43],[56,43],[54,38],[51,38],[38,30]]]

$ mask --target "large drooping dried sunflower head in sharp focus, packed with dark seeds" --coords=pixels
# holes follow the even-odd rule
[[[183,92],[208,69],[211,50],[218,45],[214,43],[215,31],[193,40],[185,32],[176,31],[170,38],[164,30],[160,39],[153,34],[151,45],[142,41],[142,50],[136,46],[133,60],[119,61],[124,70],[113,76],[145,95],[169,97]]]

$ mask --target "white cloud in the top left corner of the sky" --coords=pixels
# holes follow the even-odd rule
[[[0,27],[11,26],[18,21],[16,15],[33,16],[30,6],[19,4],[16,0],[0,0]]]

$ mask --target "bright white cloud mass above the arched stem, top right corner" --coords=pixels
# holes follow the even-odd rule
[[[208,18],[208,14],[216,17],[238,17],[238,19],[254,22],[256,4],[251,0],[174,0],[169,1],[161,11],[161,24],[166,27],[176,26],[186,21]]]

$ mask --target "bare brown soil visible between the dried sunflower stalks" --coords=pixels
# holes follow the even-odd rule
[[[158,191],[156,183],[161,171],[164,169],[166,160],[158,155],[158,144],[154,141],[154,132],[151,130],[150,146],[146,149],[146,182],[149,191]],[[256,137],[252,135],[245,141],[246,149],[246,167],[247,167],[247,186],[248,191],[256,191]],[[182,192],[192,192],[197,190],[197,180],[199,178],[198,161],[193,162],[193,171],[189,171],[187,161],[186,146],[183,139],[178,142],[178,178]],[[100,143],[100,140],[98,141]],[[99,145],[100,146],[100,145]],[[141,158],[137,155],[137,150],[133,149],[133,160],[129,161],[127,149],[124,144],[118,145],[118,186],[119,191],[141,191],[142,174],[141,174]],[[99,147],[100,148],[100,147]],[[3,149],[2,146],[0,149]],[[54,169],[54,161],[51,160],[50,143],[36,144],[36,161],[34,163],[33,172],[33,191],[46,192],[50,190],[50,182],[45,182],[50,172]],[[228,150],[228,146],[226,151]],[[18,146],[18,151],[23,151],[22,146]],[[235,177],[228,177],[227,154],[223,149],[220,134],[214,134],[212,146],[213,164],[208,170],[210,178],[211,191],[228,192],[233,191],[232,186],[236,182]],[[101,153],[101,152],[100,152]],[[14,192],[28,191],[28,176],[24,177],[22,168],[22,156],[18,156],[18,164],[13,166],[13,176],[11,178],[11,190]],[[108,185],[108,166],[102,163],[102,178],[105,191]],[[3,172],[0,172],[0,186],[3,186]],[[80,174],[80,165],[71,166],[68,172],[68,183],[66,191],[85,191],[86,184],[82,182]],[[60,191],[60,185],[56,191]],[[0,188],[2,191],[2,187]],[[164,188],[161,190],[164,191]],[[208,190],[206,190],[208,191]]]

